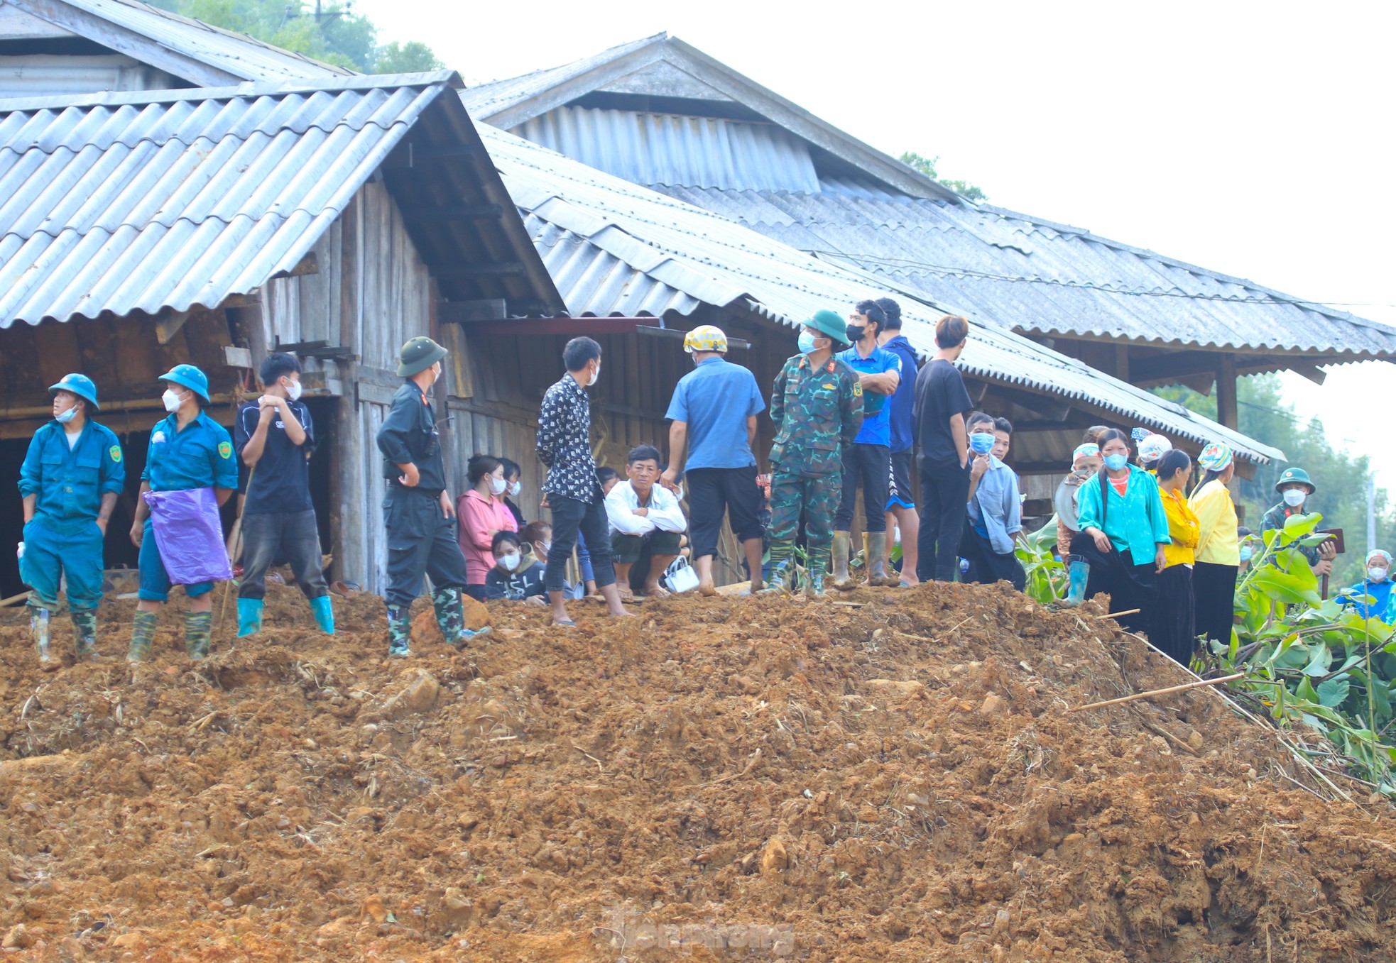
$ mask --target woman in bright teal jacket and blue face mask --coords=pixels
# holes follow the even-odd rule
[[[1168,516],[1163,511],[1159,482],[1129,465],[1124,431],[1100,435],[1104,466],[1078,490],[1081,530],[1071,540],[1071,554],[1090,565],[1086,596],[1110,593],[1114,611],[1139,611],[1120,621],[1136,632],[1149,632],[1157,609],[1157,575],[1167,565]]]

